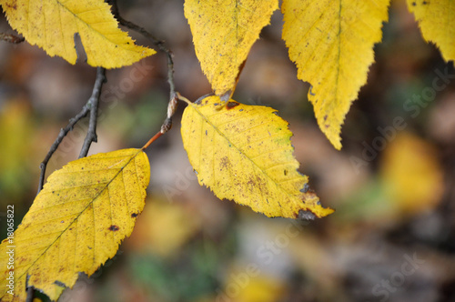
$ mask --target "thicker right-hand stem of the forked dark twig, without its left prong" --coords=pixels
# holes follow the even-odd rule
[[[101,95],[101,87],[103,87],[103,83],[106,83],[106,69],[103,67],[97,67],[96,81],[95,86],[93,87],[92,96],[90,96],[88,102],[86,103],[86,106],[88,106],[90,110],[90,120],[88,122],[86,139],[84,140],[84,145],[82,146],[79,158],[85,157],[88,153],[90,145],[92,145],[92,142],[96,143],[97,141],[96,120],[98,117],[99,96]]]

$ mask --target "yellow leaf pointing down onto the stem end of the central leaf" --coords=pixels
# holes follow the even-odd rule
[[[217,96],[232,95],[240,66],[276,9],[278,0],[185,1],[197,58]]]

